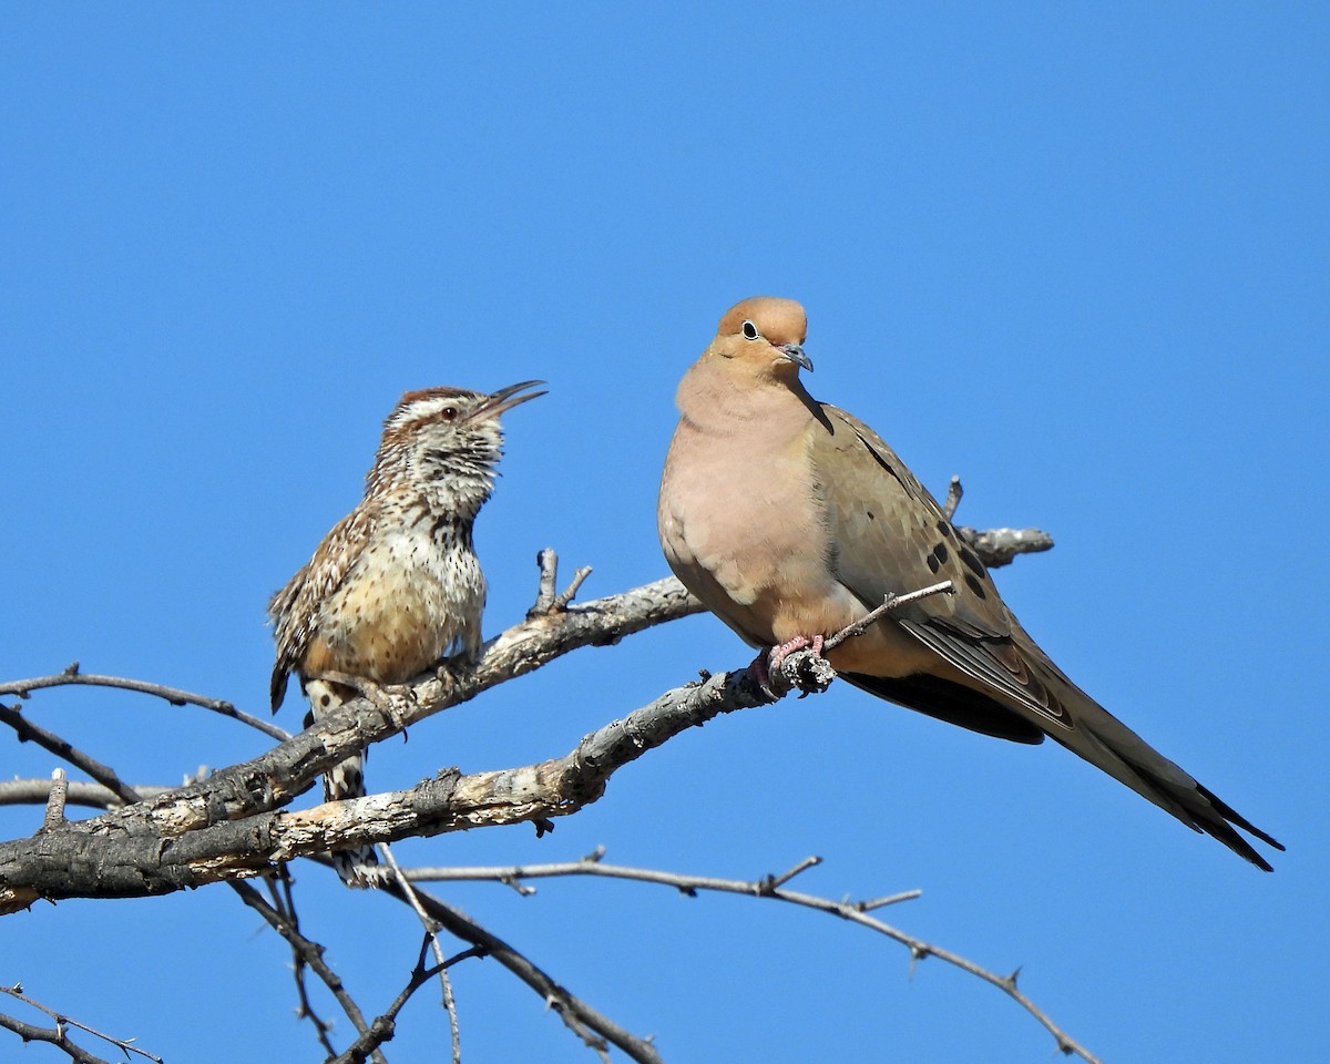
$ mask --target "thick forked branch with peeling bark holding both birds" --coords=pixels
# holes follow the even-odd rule
[[[766,696],[746,672],[725,673],[666,692],[622,721],[584,737],[563,758],[473,775],[446,770],[404,791],[297,813],[274,810],[366,742],[382,741],[580,646],[617,642],[700,609],[673,577],[580,606],[552,608],[492,640],[471,668],[440,669],[439,676],[408,688],[354,698],[273,750],[190,786],[65,825],[41,838],[0,843],[0,915],[39,896],[166,894],[255,875],[274,862],[327,850],[497,823],[539,823],[576,813],[600,797],[622,765],[721,713],[761,705]],[[822,690],[835,673],[825,661],[795,653],[777,674],[783,680],[773,677],[774,693],[783,694],[794,686]],[[132,789],[109,767],[16,710],[0,706],[0,722],[133,801]],[[96,868],[97,874],[70,875],[72,867]]]

